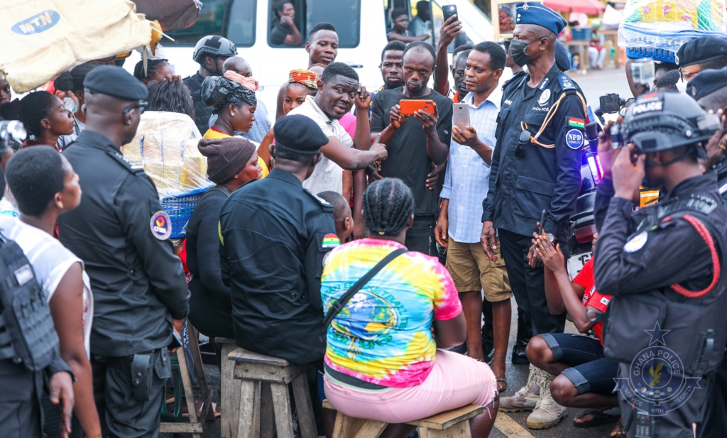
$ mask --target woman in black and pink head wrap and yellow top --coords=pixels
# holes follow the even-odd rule
[[[257,89],[257,81],[254,85],[253,88]],[[202,101],[212,107],[212,113],[217,115],[217,121],[204,133],[203,138],[234,137],[236,132],[247,132],[252,128],[257,99],[251,86],[252,84],[241,85],[225,76],[209,76],[204,79]],[[267,177],[268,166],[265,161],[260,160],[260,167],[262,177]]]

